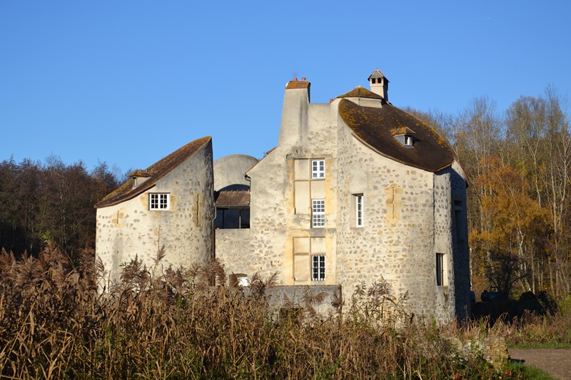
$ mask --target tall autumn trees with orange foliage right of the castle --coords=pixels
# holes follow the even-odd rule
[[[409,111],[448,138],[468,175],[473,289],[570,294],[567,98],[547,86],[505,111],[487,97],[455,115]]]

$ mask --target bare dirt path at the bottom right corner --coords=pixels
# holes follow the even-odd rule
[[[561,380],[571,380],[571,349],[509,349],[513,360],[525,360]]]

